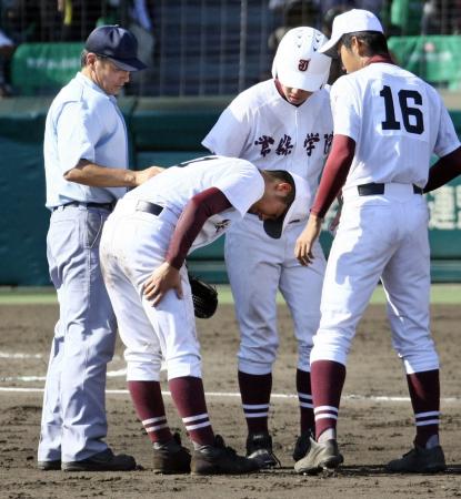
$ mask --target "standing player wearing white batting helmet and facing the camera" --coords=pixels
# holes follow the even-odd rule
[[[279,347],[278,289],[290,308],[298,339],[300,437],[295,460],[305,455],[314,426],[309,356],[319,326],[325,262],[318,243],[315,263],[310,267],[298,263],[292,248],[305,224],[332,140],[329,93],[323,89],[331,60],[319,53],[325,41],[312,28],[290,30],[277,50],[273,79],[238,95],[202,142],[216,154],[288,170],[309,184],[304,212],[283,235],[268,234],[264,224],[248,214],[226,236],[226,264],[241,337],[238,377],[248,426],[247,455],[264,467],[278,464],[268,426],[272,366]]]

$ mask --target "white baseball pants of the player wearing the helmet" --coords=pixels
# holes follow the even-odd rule
[[[271,373],[279,347],[277,292],[283,295],[298,339],[298,368],[310,371],[312,336],[320,320],[325,261],[319,243],[315,262],[303,267],[294,244],[305,221],[290,224],[279,240],[268,236],[262,222],[247,215],[226,234],[226,263],[240,327],[239,370]]]

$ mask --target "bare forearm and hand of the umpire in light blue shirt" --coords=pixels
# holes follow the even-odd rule
[[[69,182],[91,187],[137,187],[163,170],[161,166],[150,166],[149,169],[134,172],[126,169],[100,166],[96,163],[80,160],[76,167],[64,174],[64,179]]]

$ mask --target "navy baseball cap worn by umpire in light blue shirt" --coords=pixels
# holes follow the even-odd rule
[[[102,55],[124,71],[139,71],[147,65],[138,59],[138,40],[119,26],[100,26],[91,31],[84,48]]]

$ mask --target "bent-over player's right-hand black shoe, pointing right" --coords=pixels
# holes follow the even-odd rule
[[[212,446],[201,446],[194,450],[190,464],[192,475],[240,475],[260,469],[254,459],[239,456],[231,447],[226,447],[220,435]]]

